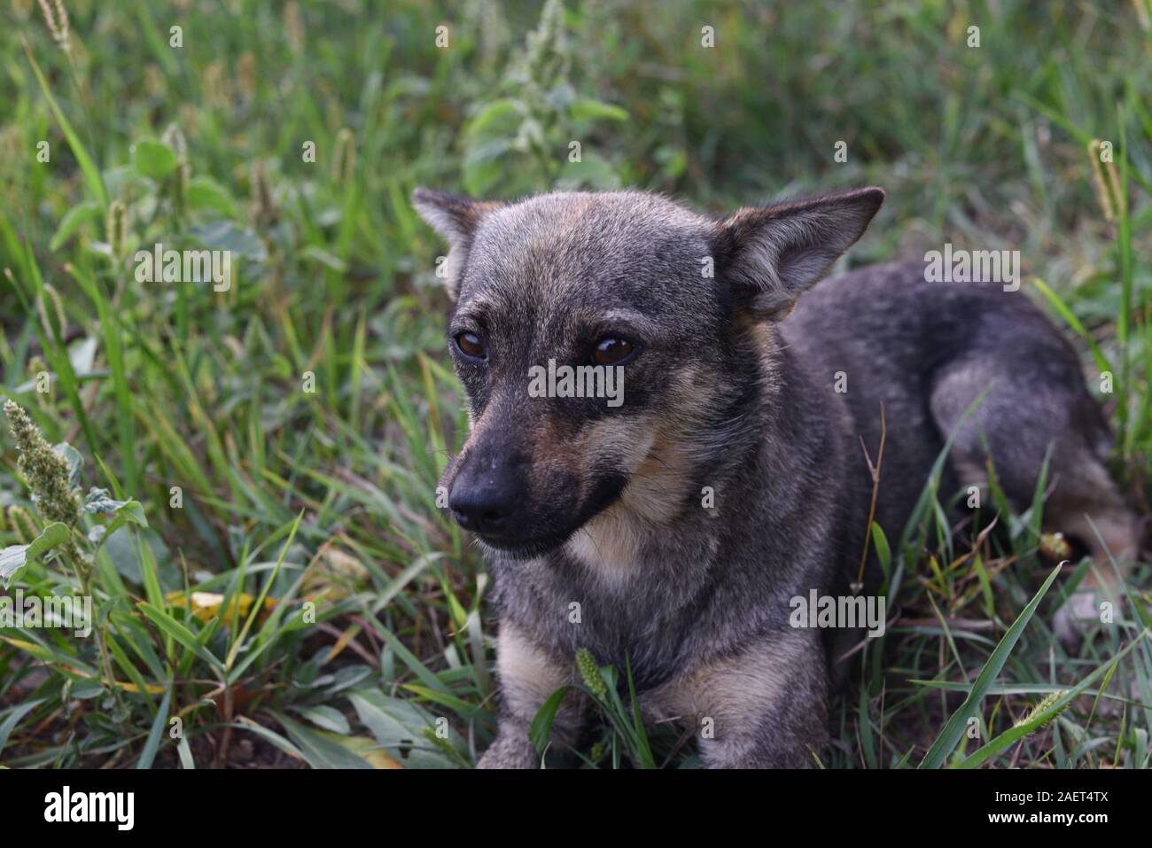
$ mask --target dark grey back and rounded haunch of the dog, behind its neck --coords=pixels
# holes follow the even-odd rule
[[[982,392],[987,394],[970,416],[976,432],[958,440],[945,464],[941,500],[962,485],[985,483],[983,437],[1001,485],[1021,508],[1032,498],[1049,442],[1064,448],[1053,461],[1077,479],[1107,453],[1107,423],[1084,388],[1075,351],[1021,292],[927,282],[923,264],[877,265],[813,287],[781,335],[816,372],[814,388],[842,396],[873,462],[882,403],[887,436],[877,520],[889,538],[904,529],[952,427]],[[862,450],[856,461],[866,475]]]

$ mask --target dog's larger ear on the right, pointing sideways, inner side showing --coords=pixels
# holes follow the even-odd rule
[[[783,320],[796,300],[864,234],[884,190],[858,189],[810,200],[742,209],[717,224],[717,271],[737,312]]]

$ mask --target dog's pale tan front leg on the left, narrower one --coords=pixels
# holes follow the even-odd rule
[[[571,668],[554,662],[508,621],[497,641],[497,676],[502,699],[497,739],[477,768],[539,768],[540,755],[529,741],[528,728],[545,701],[574,681]],[[573,739],[579,730],[575,695],[567,697],[552,725],[553,736]]]

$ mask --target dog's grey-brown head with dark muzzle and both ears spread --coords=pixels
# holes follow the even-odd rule
[[[884,192],[720,221],[635,191],[412,199],[450,244],[439,273],[469,399],[448,507],[526,556],[614,505],[658,525],[699,498],[690,484],[763,378],[765,327],[861,236]]]

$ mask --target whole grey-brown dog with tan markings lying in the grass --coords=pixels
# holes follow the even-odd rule
[[[831,639],[790,627],[789,599],[851,592],[881,403],[889,538],[955,429],[941,493],[986,483],[987,446],[1026,506],[1051,445],[1045,517],[1102,571],[1090,520],[1114,556],[1136,554],[1105,418],[1023,295],[925,282],[923,265],[808,292],[882,200],[866,188],[717,221],[636,191],[415,192],[450,243],[448,336],[469,399],[442,484],[490,556],[500,615],[502,711],[480,766],[540,764],[529,724],[575,682],[579,648],[629,664],[644,713],[695,727],[706,765],[812,765]],[[622,368],[623,402],[530,396],[550,359]],[[575,739],[582,709],[569,696],[553,734]]]

